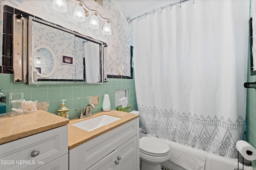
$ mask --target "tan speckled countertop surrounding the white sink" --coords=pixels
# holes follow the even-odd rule
[[[83,121],[86,119],[91,119],[92,117],[96,117],[96,116],[104,115],[104,114],[115,116],[115,117],[120,117],[122,119],[114,121],[108,125],[102,126],[93,131],[85,131],[78,127],[72,126],[72,123],[76,123],[76,122]],[[124,123],[127,123],[128,121],[136,119],[137,117],[140,117],[140,115],[136,115],[133,113],[126,113],[126,112],[122,112],[122,111],[110,110],[110,111],[102,111],[99,113],[95,113],[93,116],[84,118],[84,119],[72,119],[72,120],[70,120],[70,123],[68,125],[68,149],[73,149],[87,141],[90,141],[91,139],[94,139],[95,137],[98,137],[98,136],[100,136],[100,135],[120,126],[120,125],[123,125]]]

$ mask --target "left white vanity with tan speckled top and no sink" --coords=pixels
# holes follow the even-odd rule
[[[46,111],[0,119],[0,170],[68,170],[69,120]]]

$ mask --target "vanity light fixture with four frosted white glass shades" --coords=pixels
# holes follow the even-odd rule
[[[89,16],[90,12],[93,12],[90,21],[89,21],[89,27],[92,29],[99,29],[100,22],[99,18],[106,20],[106,23],[103,26],[102,33],[104,35],[111,35],[112,29],[111,29],[111,21],[108,18],[102,17],[96,10],[89,9],[81,0],[71,0],[78,3],[78,6],[76,6],[74,12],[73,12],[73,18],[74,20],[78,22],[84,22],[85,18]],[[52,0],[52,8],[58,12],[66,12],[64,10],[61,10],[64,8],[64,4],[66,4],[66,0]],[[66,5],[67,6],[67,5]]]

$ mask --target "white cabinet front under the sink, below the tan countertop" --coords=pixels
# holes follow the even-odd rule
[[[70,170],[139,170],[139,118],[69,150]]]

